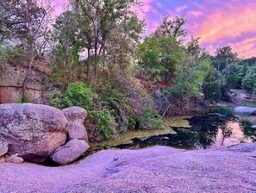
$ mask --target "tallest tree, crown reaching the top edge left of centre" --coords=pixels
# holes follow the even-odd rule
[[[138,3],[135,0],[70,0],[70,3],[78,16],[80,38],[84,40],[88,59],[93,55],[94,78],[97,80],[98,63],[100,60],[105,62],[107,42],[117,28],[128,35],[125,24],[134,19],[130,8]]]

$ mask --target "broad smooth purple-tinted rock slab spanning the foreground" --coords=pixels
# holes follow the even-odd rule
[[[106,150],[61,167],[3,163],[0,192],[253,193],[255,149],[256,144],[240,144],[230,151],[153,146]]]

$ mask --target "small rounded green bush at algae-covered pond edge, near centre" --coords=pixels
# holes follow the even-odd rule
[[[139,128],[152,129],[160,128],[163,124],[162,117],[157,111],[147,109],[144,110],[138,117]]]

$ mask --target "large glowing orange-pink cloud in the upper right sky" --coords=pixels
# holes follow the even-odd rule
[[[214,42],[225,38],[236,38],[240,34],[256,32],[256,4],[236,7],[228,11],[216,10],[206,17],[198,35],[202,42]]]

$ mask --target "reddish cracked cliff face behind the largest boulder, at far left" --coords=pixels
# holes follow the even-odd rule
[[[17,62],[16,62],[17,63]],[[28,66],[11,62],[0,63],[0,103],[21,103],[22,85]],[[28,74],[25,96],[31,103],[41,103],[43,78],[51,70],[43,60],[36,60]]]

